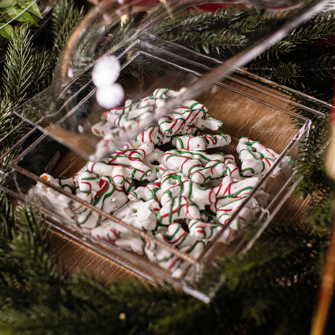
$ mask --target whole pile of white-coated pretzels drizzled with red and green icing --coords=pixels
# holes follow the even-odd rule
[[[169,89],[157,89],[140,102],[127,100],[125,107],[103,113],[103,121],[94,125],[92,132],[103,136],[101,145],[106,145],[115,127],[130,126],[176,94]],[[234,156],[205,152],[207,148],[229,144],[229,135],[197,135],[204,128],[217,130],[221,126],[221,121],[208,115],[206,107],[189,101],[178,111],[159,119],[158,124],[137,135],[118,152],[98,162],[89,161],[74,177],[54,179],[48,174],[41,177],[197,258],[278,157],[259,142],[241,138],[237,146],[242,161],[241,176]],[[154,147],[167,142],[176,149],[163,152]],[[283,164],[288,163],[287,157],[272,176],[278,175]],[[148,184],[135,189],[134,179],[147,180]],[[170,251],[152,241],[146,243],[126,227],[37,183],[29,196],[41,195],[51,200],[60,215],[90,231],[94,239],[103,239],[123,250],[145,253],[151,261],[171,270],[173,277],[183,276],[187,262]],[[264,190],[258,190],[223,232],[220,241],[229,243],[236,238],[241,226],[260,207],[265,207],[268,199]],[[185,223],[185,229],[187,224],[189,231],[183,229],[181,222]]]

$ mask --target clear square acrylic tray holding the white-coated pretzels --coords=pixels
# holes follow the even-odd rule
[[[135,41],[126,50],[117,50],[116,55],[119,56],[121,62],[122,70],[119,81],[122,82],[125,90],[124,100],[139,100],[152,94],[156,88],[179,90],[221,64],[218,60],[174,43],[165,42],[150,34]],[[75,84],[78,83],[72,85]],[[270,175],[285,159],[285,156],[293,157],[291,161],[297,161],[299,143],[302,143],[314,131],[311,129],[311,120],[302,116],[301,113],[295,113],[293,109],[299,108],[306,114],[317,115],[322,120],[325,118],[323,113],[307,108],[297,101],[313,102],[317,108],[323,110],[331,108],[321,100],[244,70],[236,70],[232,76],[227,76],[224,81],[217,82],[198,96],[197,101],[208,108],[209,115],[224,123],[219,130],[206,130],[202,131],[202,134],[223,132],[231,136],[229,145],[209,149],[208,153],[223,152],[233,155],[241,170],[236,147],[241,137],[248,137],[253,141],[259,141],[266,148],[280,155],[216,238],[207,243],[197,259],[182,253],[165,241],[157,241],[148,232],[132,228],[133,232],[138,233],[139,238],[143,240],[143,245],[151,240],[170,253],[174,252],[179,260],[183,260],[187,265],[184,265],[185,273],[181,278],[173,278],[171,271],[151,262],[145,254],[138,255],[135,252],[121,250],[108,241],[93,239],[90,231],[82,229],[69,220],[61,208],[50,201],[50,198],[41,194],[34,197],[27,196],[29,188],[39,182],[52,188],[59,194],[59,199],[61,195],[66,195],[73,201],[78,201],[75,195],[40,178],[44,172],[54,178],[74,176],[86,164],[89,154],[94,153],[94,143],[96,144],[100,139],[91,132],[91,126],[100,120],[102,112],[102,109],[96,104],[94,87],[90,86],[87,79],[78,84],[78,87],[79,94],[72,96],[69,102],[69,105],[74,107],[63,110],[60,108],[58,114],[50,113],[49,117],[45,117],[48,96],[51,94],[50,89],[30,99],[15,111],[22,118],[22,123],[30,124],[31,128],[8,153],[1,157],[4,161],[10,154],[17,155],[12,164],[15,170],[13,182],[7,191],[28,199],[29,202],[48,214],[51,225],[61,229],[72,238],[80,240],[90,248],[103,253],[149,280],[169,282],[204,302],[209,302],[223,283],[217,267],[218,257],[229,257],[233,254],[247,252],[301,180],[294,177],[294,166],[283,170],[276,178]],[[83,112],[86,113],[85,116]],[[72,116],[76,113],[81,113],[82,116],[81,118],[76,117],[75,122],[79,124],[75,124],[74,130],[69,129],[73,127]],[[81,128],[78,128],[79,125]],[[0,139],[0,144],[2,140]],[[167,143],[158,148],[165,151],[173,147]],[[146,183],[144,181],[135,182],[135,184],[143,186]],[[229,223],[238,217],[240,211],[250,206],[253,195],[259,190],[264,190],[269,194],[267,204],[258,207],[255,217],[246,224],[246,227],[242,225],[239,228],[235,239],[229,243],[220,242],[220,236],[223,235]],[[113,214],[103,212],[83,200],[80,201],[80,204],[88,210],[115,220]],[[126,223],[125,225],[127,226]],[[251,230],[254,233],[251,234]]]

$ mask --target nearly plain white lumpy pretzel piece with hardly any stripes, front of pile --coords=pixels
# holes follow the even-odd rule
[[[153,199],[145,202],[143,200],[130,201],[113,215],[134,227],[153,230],[156,227],[156,213],[159,208],[158,202]]]

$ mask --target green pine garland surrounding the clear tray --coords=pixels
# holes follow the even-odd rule
[[[276,17],[234,7],[214,13],[189,12],[164,20],[157,34],[213,57],[225,59],[248,44],[248,36]],[[27,29],[16,31],[2,76],[0,137],[19,120],[15,106],[46,87],[60,50],[82,18],[72,1],[54,10],[52,50],[32,44]],[[225,29],[220,27],[225,26]],[[129,29],[124,26],[123,29]],[[120,35],[123,33],[122,29]],[[335,36],[334,12],[318,15],[248,65],[248,69],[325,99],[332,97],[335,52],[322,44]],[[302,57],[302,52],[307,55]],[[21,73],[21,76],[17,74]],[[328,87],[326,87],[328,85]],[[314,106],[309,106],[314,107]],[[296,110],[297,113],[302,111]],[[11,199],[0,192],[0,334],[306,334],[315,305],[324,251],[331,226],[333,185],[316,156],[325,129],[304,144],[300,196],[318,192],[302,222],[285,217],[272,222],[243,258],[222,260],[226,284],[206,305],[172,287],[140,282],[106,283],[83,273],[60,275],[48,252],[44,218],[28,205],[13,212]],[[0,155],[27,129],[1,143]],[[10,154],[1,170],[11,175]],[[8,175],[0,175],[6,186]],[[327,334],[334,329],[335,304]]]

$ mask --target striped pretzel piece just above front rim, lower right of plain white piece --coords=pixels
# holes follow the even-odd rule
[[[194,244],[195,238],[186,232],[180,223],[173,222],[167,227],[166,232],[157,232],[155,237],[175,247],[182,248]]]

